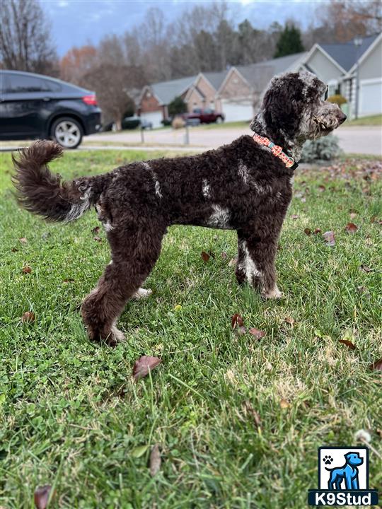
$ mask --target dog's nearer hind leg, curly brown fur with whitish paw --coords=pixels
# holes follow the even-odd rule
[[[125,339],[116,327],[117,319],[154,267],[166,230],[162,225],[141,223],[108,232],[112,261],[81,308],[91,340],[114,346]]]

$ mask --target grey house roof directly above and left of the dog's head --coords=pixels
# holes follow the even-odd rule
[[[261,91],[267,86],[270,79],[275,74],[287,71],[305,55],[306,52],[294,53],[286,57],[265,60],[264,62],[257,62],[256,64],[250,64],[248,66],[236,66],[236,69],[238,69],[241,75],[248,81],[250,86],[257,91]]]

